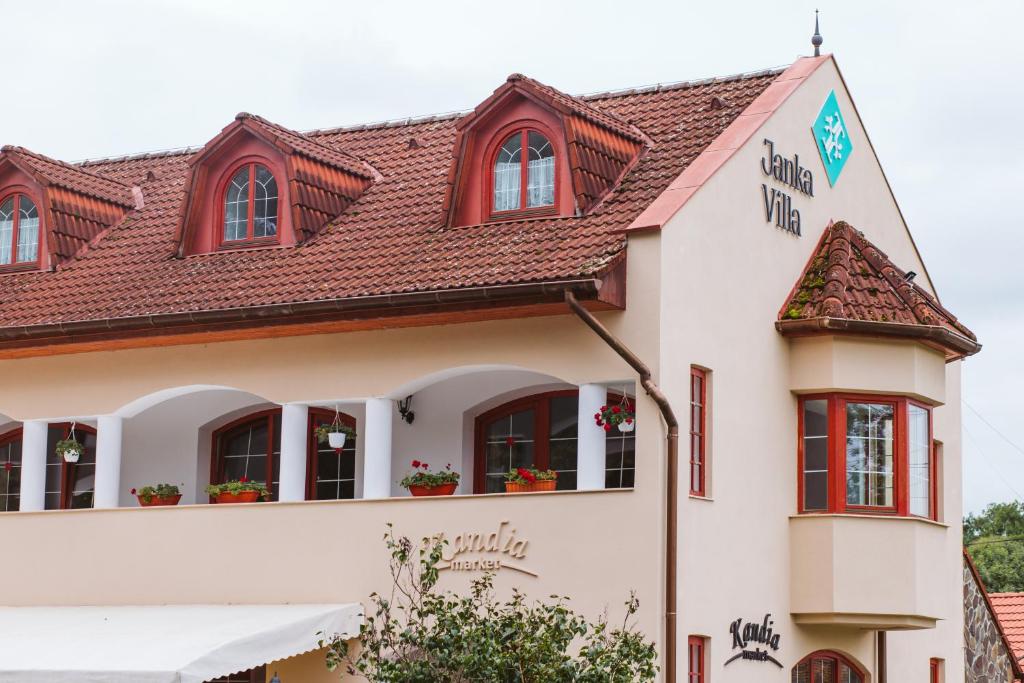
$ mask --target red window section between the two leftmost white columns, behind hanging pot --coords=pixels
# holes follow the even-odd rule
[[[65,462],[57,455],[57,441],[71,437],[71,423],[51,424],[46,435],[47,510],[91,508],[96,479],[96,430],[76,424],[75,440],[82,444],[77,463]]]

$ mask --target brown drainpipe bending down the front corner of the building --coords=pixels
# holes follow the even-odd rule
[[[669,398],[651,379],[650,369],[644,365],[626,344],[604,327],[594,314],[583,307],[569,290],[565,291],[565,303],[577,316],[587,324],[597,336],[622,356],[640,375],[640,386],[657,403],[662,417],[669,427],[668,440],[668,482],[666,484],[666,551],[665,551],[665,683],[676,683],[676,511],[679,507],[679,421],[669,404]]]

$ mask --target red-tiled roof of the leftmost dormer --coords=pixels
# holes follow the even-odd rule
[[[0,148],[0,167],[7,163],[43,188],[40,210],[49,227],[49,250],[60,263],[80,254],[135,206],[129,185],[24,147]]]

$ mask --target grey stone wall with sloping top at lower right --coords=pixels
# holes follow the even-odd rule
[[[1014,680],[1010,652],[967,558],[964,559],[964,643],[966,683],[1007,683]]]

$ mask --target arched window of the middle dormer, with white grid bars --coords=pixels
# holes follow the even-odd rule
[[[238,168],[224,188],[224,243],[278,237],[278,181],[262,164]]]

